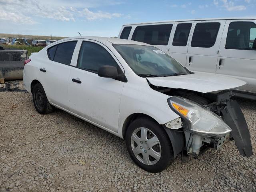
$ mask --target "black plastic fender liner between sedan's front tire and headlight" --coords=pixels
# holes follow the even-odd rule
[[[163,126],[164,129],[166,130],[170,141],[172,143],[172,149],[173,149],[173,153],[174,153],[174,158],[176,158],[176,156],[182,152],[183,146],[184,146],[184,136],[183,136],[183,132],[178,132],[176,130],[171,130],[169,128],[167,128],[166,126]]]

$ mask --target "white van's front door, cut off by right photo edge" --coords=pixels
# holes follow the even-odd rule
[[[256,92],[255,20],[227,20],[216,73],[246,81],[238,90]]]

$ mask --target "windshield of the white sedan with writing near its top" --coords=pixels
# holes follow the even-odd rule
[[[132,70],[142,77],[190,74],[174,58],[153,46],[113,44]]]

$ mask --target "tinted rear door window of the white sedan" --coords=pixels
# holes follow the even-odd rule
[[[47,50],[49,59],[58,63],[70,65],[76,42],[77,41],[64,42],[49,48]]]

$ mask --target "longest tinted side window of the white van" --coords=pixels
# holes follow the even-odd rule
[[[172,24],[137,26],[132,40],[151,45],[168,45]]]

